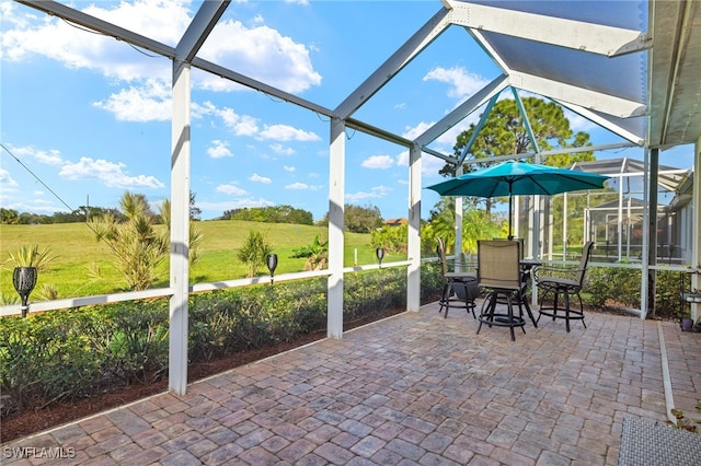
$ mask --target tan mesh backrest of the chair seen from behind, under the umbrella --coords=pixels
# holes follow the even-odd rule
[[[520,289],[520,243],[518,241],[478,241],[478,282],[480,287]]]

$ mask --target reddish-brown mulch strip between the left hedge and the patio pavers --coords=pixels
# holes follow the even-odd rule
[[[358,327],[380,318],[401,313],[403,310],[388,310],[381,314],[374,314],[354,322],[344,323],[344,330]],[[189,364],[187,366],[187,381],[189,383],[226,372],[230,369],[244,365],[271,356],[298,348],[312,341],[326,337],[326,330],[319,330],[300,335],[292,341],[281,342],[275,346],[256,350],[239,352],[216,361]],[[168,378],[146,385],[131,385],[122,389],[110,392],[99,397],[81,399],[79,401],[58,403],[43,409],[25,411],[20,415],[2,419],[0,423],[0,443],[20,439],[37,433],[77,419],[94,415],[100,411],[126,405],[151,395],[165,392]]]

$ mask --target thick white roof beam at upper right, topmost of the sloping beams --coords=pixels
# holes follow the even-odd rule
[[[506,8],[443,0],[450,8],[450,22],[560,47],[616,57],[652,47],[640,31],[527,13]],[[566,34],[562,32],[566,31]]]

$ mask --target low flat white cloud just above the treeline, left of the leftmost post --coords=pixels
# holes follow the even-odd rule
[[[65,164],[58,173],[65,179],[99,179],[112,188],[162,188],[165,185],[154,176],[128,176],[123,172],[124,163],[81,158],[77,163]]]

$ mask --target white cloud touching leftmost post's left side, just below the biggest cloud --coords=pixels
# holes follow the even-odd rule
[[[114,114],[120,121],[168,121],[173,115],[171,90],[164,81],[147,80],[143,85],[123,89],[93,106]]]

